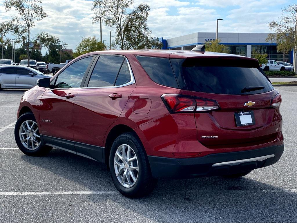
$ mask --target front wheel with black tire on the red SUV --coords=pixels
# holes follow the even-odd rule
[[[15,124],[15,142],[20,151],[28,156],[45,156],[53,148],[44,145],[36,119],[31,112],[26,112],[18,118]]]

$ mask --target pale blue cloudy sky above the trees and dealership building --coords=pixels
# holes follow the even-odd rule
[[[135,0],[135,6],[146,3],[151,10],[148,26],[154,37],[164,39],[191,34],[194,32],[215,32],[217,18],[219,32],[269,32],[268,25],[276,20],[282,9],[293,0]],[[59,37],[75,51],[82,37],[100,38],[100,25],[92,24],[92,1],[89,0],[43,0],[42,6],[47,18],[36,22],[31,30]],[[0,1],[0,22],[17,15],[14,10],[8,12]],[[102,39],[109,44],[109,31],[112,28],[102,21]],[[11,36],[9,36],[11,38]],[[42,49],[44,54],[46,51]]]

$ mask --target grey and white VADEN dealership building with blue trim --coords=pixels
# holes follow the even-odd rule
[[[267,59],[276,61],[293,62],[293,50],[288,54],[277,52],[275,42],[267,42],[268,33],[218,33],[221,43],[228,47],[229,52],[236,55],[252,56],[253,50],[267,53]],[[162,49],[169,50],[192,50],[196,45],[204,44],[216,39],[216,33],[197,32],[171,39],[160,40]]]

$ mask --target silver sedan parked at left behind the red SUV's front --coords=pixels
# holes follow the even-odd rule
[[[45,75],[31,67],[2,66],[0,67],[0,89],[32,88],[40,78],[53,77]]]

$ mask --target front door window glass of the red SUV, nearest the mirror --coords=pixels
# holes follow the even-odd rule
[[[80,59],[64,69],[56,78],[55,88],[79,88],[92,59],[92,56]]]

